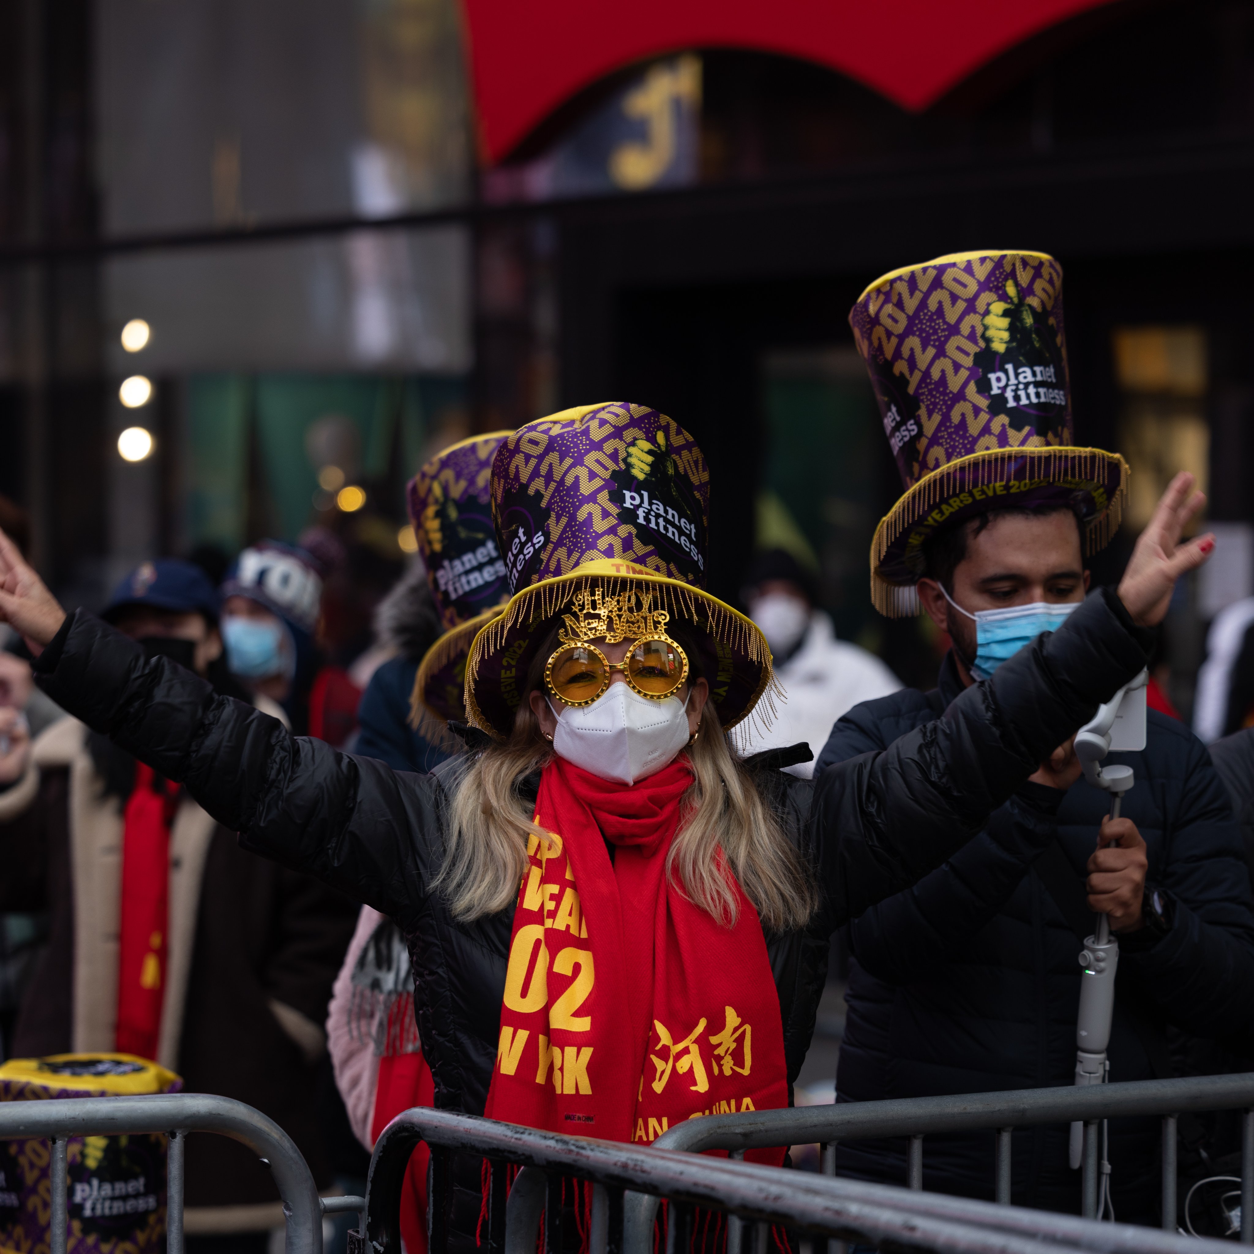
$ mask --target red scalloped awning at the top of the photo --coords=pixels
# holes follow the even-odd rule
[[[828,65],[924,109],[1014,44],[1109,0],[464,0],[479,129],[500,161],[633,61],[742,48]]]

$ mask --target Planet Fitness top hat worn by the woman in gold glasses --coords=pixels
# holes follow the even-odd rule
[[[770,688],[765,637],[705,591],[710,472],[665,414],[617,401],[520,426],[497,450],[492,508],[513,597],[470,646],[466,712],[483,731],[509,735],[562,619],[588,638],[683,623],[724,729]]]

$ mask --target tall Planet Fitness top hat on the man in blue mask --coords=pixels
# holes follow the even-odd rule
[[[1122,515],[1127,463],[1076,448],[1062,267],[1041,252],[937,257],[877,278],[849,314],[905,494],[872,540],[872,599],[914,613],[923,548],[996,504],[1071,505],[1090,553]]]

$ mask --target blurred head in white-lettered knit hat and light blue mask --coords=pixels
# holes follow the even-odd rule
[[[282,706],[295,732],[308,731],[319,672],[322,576],[317,559],[281,540],[261,540],[232,563],[222,584],[222,641],[231,673]]]

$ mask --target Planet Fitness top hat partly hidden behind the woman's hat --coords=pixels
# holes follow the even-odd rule
[[[418,667],[410,721],[435,734],[465,720],[466,651],[509,599],[492,523],[492,461],[509,431],[443,449],[409,483],[409,517],[444,635]]]

